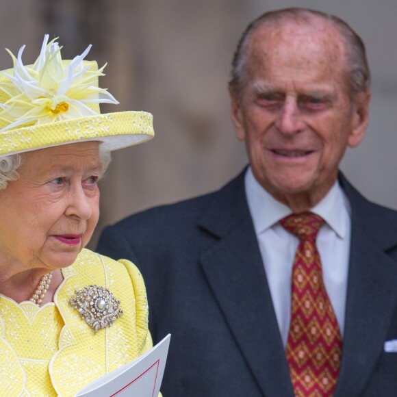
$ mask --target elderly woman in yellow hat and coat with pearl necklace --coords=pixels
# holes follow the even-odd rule
[[[45,36],[33,65],[0,75],[0,395],[71,396],[151,348],[142,277],[84,249],[110,151],[153,136],[117,103],[103,68],[64,61]]]

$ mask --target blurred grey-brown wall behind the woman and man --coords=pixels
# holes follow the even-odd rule
[[[397,209],[396,0],[3,0],[0,69],[5,47],[36,60],[44,34],[59,36],[64,59],[93,44],[88,60],[108,62],[100,86],[120,105],[146,110],[154,140],[113,155],[101,182],[105,225],[142,209],[215,190],[246,164],[229,117],[231,58],[246,25],[268,10],[300,6],[343,18],[363,38],[372,71],[366,139],[342,170],[372,201]]]

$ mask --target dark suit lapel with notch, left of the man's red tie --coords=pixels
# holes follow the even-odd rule
[[[248,368],[264,396],[293,396],[243,175],[219,192],[201,227],[219,238],[201,265]]]

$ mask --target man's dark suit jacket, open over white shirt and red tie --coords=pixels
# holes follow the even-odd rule
[[[352,207],[346,321],[335,397],[397,396],[397,212],[342,175]],[[244,172],[218,192],[107,227],[98,251],[137,264],[155,342],[172,334],[164,397],[292,397]]]

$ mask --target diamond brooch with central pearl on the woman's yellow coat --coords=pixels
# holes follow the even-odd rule
[[[112,326],[115,320],[123,316],[120,300],[105,287],[88,285],[83,290],[75,291],[69,303],[79,311],[81,318],[94,329]]]

